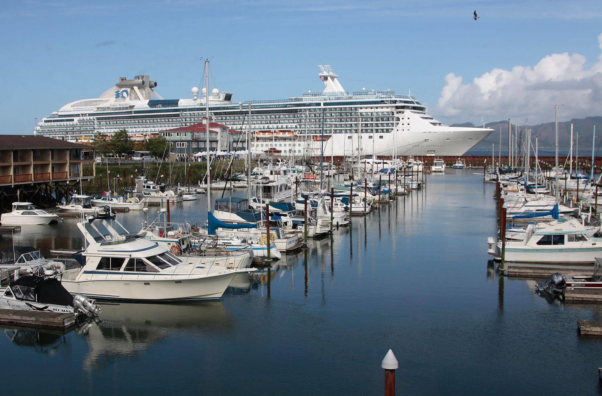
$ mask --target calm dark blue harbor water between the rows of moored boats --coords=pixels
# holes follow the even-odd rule
[[[427,182],[220,301],[103,305],[101,323],[66,335],[3,327],[3,393],[380,394],[388,348],[399,394],[600,392],[602,341],[578,336],[577,320],[602,308],[550,302],[488,268],[494,185],[451,169]],[[172,219],[202,223],[205,208],[184,202]],[[14,239],[47,257],[82,245],[72,218]]]

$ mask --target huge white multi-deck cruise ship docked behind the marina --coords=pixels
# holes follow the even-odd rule
[[[318,65],[324,91],[288,99],[233,102],[234,94],[213,88],[191,89],[188,99],[163,99],[157,82],[147,75],[119,78],[96,99],[64,105],[43,118],[35,134],[69,141],[89,141],[99,132],[111,135],[126,129],[146,138],[172,128],[203,122],[209,117],[239,131],[249,130],[253,150],[306,153],[316,147],[326,156],[453,155],[461,156],[492,129],[442,125],[411,95],[393,90],[346,91],[329,65]],[[200,92],[200,97],[199,97]],[[296,143],[282,143],[294,137]],[[278,139],[278,140],[276,140]],[[315,155],[315,152],[314,152]]]

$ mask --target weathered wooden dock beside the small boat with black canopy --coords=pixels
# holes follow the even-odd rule
[[[76,315],[51,311],[26,311],[24,309],[0,309],[0,323],[44,329],[67,329],[75,326]]]

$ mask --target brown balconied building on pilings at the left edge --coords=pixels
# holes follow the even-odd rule
[[[96,175],[92,146],[33,135],[0,135],[0,207],[31,202],[48,208],[69,200]]]

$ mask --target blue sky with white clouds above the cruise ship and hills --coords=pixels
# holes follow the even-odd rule
[[[4,1],[0,133],[32,133],[34,117],[120,76],[148,74],[165,99],[189,97],[208,56],[235,101],[322,90],[323,63],[347,90],[411,87],[445,123],[546,122],[569,99],[578,105],[563,119],[599,116],[601,20],[600,0]]]

